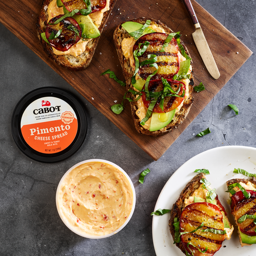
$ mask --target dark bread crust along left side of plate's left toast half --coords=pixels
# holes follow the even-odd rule
[[[173,205],[172,210],[170,211],[170,220],[169,220],[169,229],[172,234],[173,240],[175,236],[175,228],[174,228],[174,218],[180,218],[181,212],[185,206],[184,200],[193,195],[194,191],[200,187],[202,184],[200,182],[201,179],[205,179],[204,174],[200,173],[196,175],[192,180],[190,180],[184,189],[181,191],[180,197]],[[186,250],[184,249],[182,243],[176,243],[176,246],[181,249],[181,251],[186,254]]]

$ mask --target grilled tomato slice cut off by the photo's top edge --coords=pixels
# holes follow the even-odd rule
[[[61,0],[66,9],[71,12],[75,9],[87,9],[87,4],[83,0]],[[100,11],[105,8],[106,0],[91,0],[92,12]],[[77,14],[80,14],[78,12]]]

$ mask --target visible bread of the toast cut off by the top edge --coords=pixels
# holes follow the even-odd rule
[[[47,44],[47,42],[44,39],[42,39],[40,35],[41,33],[46,31],[46,25],[48,20],[47,8],[52,1],[56,1],[56,0],[44,0],[44,2],[42,3],[41,12],[38,15],[38,19],[37,19],[37,24],[36,24],[37,36],[42,44],[42,47],[44,48],[47,55],[50,58],[52,58],[56,63],[58,63],[60,66],[71,69],[71,70],[75,70],[75,71],[86,69],[90,65],[90,62],[94,55],[100,36],[92,39],[87,44],[86,50],[80,55],[78,55],[77,57],[72,56],[70,54],[55,55],[52,51],[52,47],[49,44]],[[100,24],[100,27],[98,28],[100,33],[102,33],[102,30],[109,18],[109,15],[115,3],[116,3],[116,0],[110,0],[110,10],[104,12],[102,22]]]

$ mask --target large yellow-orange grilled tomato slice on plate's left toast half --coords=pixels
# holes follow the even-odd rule
[[[201,228],[191,232],[202,223],[203,226]],[[202,229],[206,228],[224,230],[223,215],[218,206],[206,202],[187,205],[180,217],[180,232],[191,232],[181,235],[181,242],[189,254],[212,256],[221,248],[224,234],[203,232]],[[199,251],[199,249],[204,251],[206,247],[207,250],[204,253]]]

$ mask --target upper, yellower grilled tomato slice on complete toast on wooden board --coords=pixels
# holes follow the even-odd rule
[[[139,48],[139,44],[145,41],[150,42],[147,50],[139,57],[139,61],[142,62],[147,59],[148,54],[155,54],[157,56],[158,71],[151,79],[163,78],[173,78],[180,69],[180,59],[178,56],[179,47],[177,40],[173,37],[172,41],[169,42],[168,47],[165,47],[164,52],[160,52],[164,44],[167,34],[165,33],[150,33],[141,36],[133,47],[133,51]],[[144,65],[139,68],[138,74],[146,79],[148,75],[152,74],[156,68],[150,67],[149,64]]]

